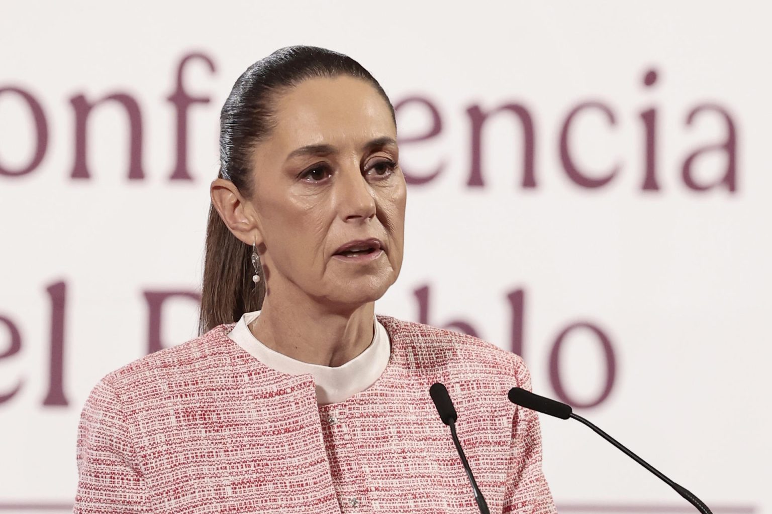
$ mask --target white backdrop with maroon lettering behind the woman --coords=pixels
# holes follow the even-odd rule
[[[402,165],[424,183],[379,313],[462,321],[522,351],[535,391],[588,405],[577,412],[716,514],[772,512],[770,15],[761,2],[6,2],[0,512],[65,512],[90,388],[195,335],[195,301],[158,302],[200,281],[218,111],[249,64],[293,44],[353,56],[401,103]],[[208,102],[178,110],[185,95]],[[542,430],[561,512],[690,512],[581,425]]]

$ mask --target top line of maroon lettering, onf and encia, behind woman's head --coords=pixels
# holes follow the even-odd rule
[[[174,169],[168,175],[169,180],[193,180],[191,170],[188,166],[188,110],[194,104],[208,104],[211,101],[210,96],[192,96],[185,88],[185,69],[193,62],[203,63],[209,72],[216,72],[215,62],[211,57],[204,53],[191,53],[183,56],[178,63],[176,72],[176,82],[174,90],[166,101],[174,109],[176,118],[176,159]],[[655,69],[648,70],[642,81],[644,88],[655,86],[658,75]],[[29,116],[32,119],[32,126],[35,130],[35,145],[32,156],[22,165],[12,169],[7,164],[2,163],[2,147],[0,147],[0,177],[15,179],[22,176],[28,176],[33,173],[42,163],[49,147],[49,120],[46,116],[41,102],[21,86],[2,86],[0,87],[0,101],[10,101],[15,98],[22,102],[29,110]],[[129,180],[144,180],[145,170],[143,165],[143,138],[144,124],[140,105],[137,99],[125,91],[109,92],[100,98],[87,98],[83,93],[73,95],[69,98],[69,103],[73,109],[73,133],[74,133],[74,157],[73,166],[69,170],[69,176],[73,180],[89,180],[91,170],[89,168],[87,156],[88,152],[88,132],[90,129],[90,116],[94,111],[105,103],[113,103],[123,107],[127,117],[127,137],[128,137],[128,170]],[[437,102],[432,101],[428,96],[410,96],[405,99],[398,99],[394,102],[394,109],[399,117],[400,112],[411,109],[414,115],[422,116],[424,123],[422,126],[428,127],[422,133],[413,133],[405,136],[400,134],[399,143],[406,160],[409,161],[411,149],[418,149],[420,145],[431,143],[432,140],[442,136],[445,120],[441,115]],[[502,102],[492,108],[483,108],[479,104],[472,104],[465,109],[466,124],[469,133],[469,163],[466,178],[466,186],[470,188],[485,186],[485,175],[482,163],[483,135],[489,133],[486,131],[486,124],[489,120],[506,116],[520,129],[522,134],[520,141],[513,141],[513,147],[522,148],[523,163],[520,170],[520,187],[523,189],[533,189],[537,187],[538,177],[536,171],[536,148],[537,138],[534,128],[534,121],[531,109],[520,102]],[[557,153],[560,156],[564,173],[576,186],[582,188],[594,189],[606,186],[614,180],[615,176],[621,172],[625,163],[618,160],[608,169],[583,169],[577,161],[579,160],[579,149],[571,146],[571,135],[576,132],[574,127],[577,121],[585,116],[601,116],[604,123],[608,126],[609,132],[615,131],[617,126],[618,114],[614,106],[601,100],[584,101],[577,103],[576,106],[568,110],[562,123],[560,123],[560,136],[557,141]],[[637,113],[636,123],[640,126],[642,133],[642,163],[640,166],[641,190],[660,190],[660,183],[657,170],[658,148],[659,148],[659,129],[658,129],[658,108],[657,106],[646,106]],[[713,123],[720,123],[723,126],[723,136],[719,140],[703,143],[689,149],[689,153],[681,163],[681,177],[684,185],[693,191],[705,191],[714,188],[724,188],[730,192],[736,191],[736,128],[733,117],[728,109],[716,103],[699,103],[689,109],[684,119],[685,126],[692,126],[698,118],[713,118]],[[8,120],[2,120],[8,123]],[[13,126],[22,125],[14,123]],[[401,125],[400,125],[401,126]],[[408,127],[408,129],[411,127]],[[404,132],[401,130],[401,133]],[[518,145],[520,143],[520,145]],[[504,149],[503,151],[511,151]],[[725,166],[720,170],[712,180],[701,180],[696,178],[696,162],[707,155],[725,156]],[[614,158],[613,154],[610,156]],[[430,170],[411,170],[409,166],[403,166],[405,179],[414,186],[431,183],[437,179],[445,170],[444,160]],[[516,173],[518,171],[516,170]]]

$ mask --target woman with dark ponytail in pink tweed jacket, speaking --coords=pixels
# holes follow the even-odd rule
[[[374,315],[402,263],[394,109],[345,55],[256,62],[221,116],[201,333],[114,371],[78,438],[75,512],[555,512],[520,358]]]

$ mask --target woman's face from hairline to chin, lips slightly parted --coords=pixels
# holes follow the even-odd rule
[[[378,299],[399,274],[405,226],[387,103],[364,80],[315,78],[276,99],[275,119],[250,199],[269,298],[287,287],[333,308]]]

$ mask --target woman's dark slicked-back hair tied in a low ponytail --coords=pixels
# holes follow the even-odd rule
[[[378,81],[347,55],[315,46],[288,46],[249,66],[236,80],[220,113],[219,178],[230,180],[245,198],[252,197],[252,150],[276,127],[274,104],[283,92],[306,79],[351,76],[370,82],[391,109]],[[214,206],[209,207],[201,284],[199,332],[238,321],[257,311],[265,297],[265,277],[252,282],[252,247],[225,226]]]

